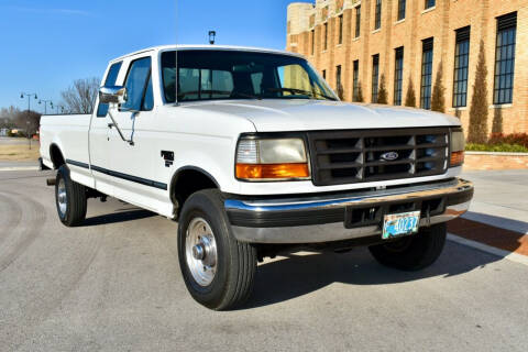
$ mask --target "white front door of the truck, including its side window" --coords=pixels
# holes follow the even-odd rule
[[[116,197],[160,212],[166,201],[167,185],[156,179],[154,162],[163,162],[156,151],[156,135],[153,121],[154,92],[152,84],[152,58],[144,56],[130,62],[124,78],[128,100],[120,109],[112,109],[112,116],[121,129],[125,142],[117,129],[110,132],[110,164]]]

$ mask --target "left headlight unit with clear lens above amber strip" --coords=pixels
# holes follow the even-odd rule
[[[237,178],[244,180],[309,179],[301,139],[242,139],[237,150]]]

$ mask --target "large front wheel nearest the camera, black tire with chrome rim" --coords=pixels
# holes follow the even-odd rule
[[[178,257],[187,289],[208,308],[232,309],[252,293],[256,250],[234,239],[219,190],[200,190],[184,204]]]

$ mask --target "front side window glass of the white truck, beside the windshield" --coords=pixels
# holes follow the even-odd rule
[[[127,81],[128,99],[121,105],[122,110],[146,111],[154,107],[151,57],[143,57],[131,63]]]

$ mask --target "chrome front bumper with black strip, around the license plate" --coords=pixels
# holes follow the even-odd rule
[[[411,210],[421,210],[420,227],[429,227],[460,217],[472,198],[473,184],[455,178],[339,196],[227,199],[224,207],[237,240],[293,244],[374,237],[382,233],[384,215]]]

